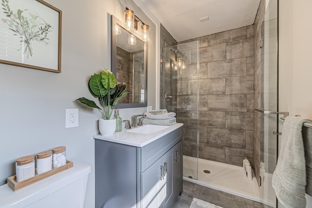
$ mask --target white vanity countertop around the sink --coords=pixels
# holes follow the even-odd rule
[[[144,125],[144,124],[143,124]],[[168,126],[167,129],[164,129],[162,131],[153,133],[153,134],[142,134],[142,133],[134,133],[134,132],[126,132],[127,129],[122,129],[121,132],[115,132],[111,136],[102,136],[101,134],[95,135],[95,139],[100,139],[104,141],[109,142],[115,142],[119,144],[124,145],[130,145],[135,147],[144,147],[145,145],[148,145],[152,142],[154,142],[156,139],[175,131],[176,129],[182,127],[182,123],[176,123],[175,125]],[[137,127],[139,128],[139,127]]]

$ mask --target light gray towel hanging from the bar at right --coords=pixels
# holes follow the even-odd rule
[[[283,125],[280,153],[273,172],[272,186],[279,202],[286,208],[305,208],[306,162],[302,125],[309,122],[287,116]]]

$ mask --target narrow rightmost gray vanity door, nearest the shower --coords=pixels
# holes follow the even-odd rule
[[[182,193],[183,186],[183,152],[182,140],[174,147],[174,200]]]

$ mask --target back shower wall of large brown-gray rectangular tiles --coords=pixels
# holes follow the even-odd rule
[[[198,156],[238,166],[242,166],[245,156],[253,162],[254,26],[196,39],[200,47]],[[192,95],[197,94],[197,77],[184,76],[181,82],[177,90],[178,104],[184,98],[195,99]],[[191,89],[187,91],[189,86]],[[195,113],[189,113],[189,118],[186,113],[177,113],[178,122],[184,123],[183,153],[194,157]]]

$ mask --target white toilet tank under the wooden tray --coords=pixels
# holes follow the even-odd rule
[[[74,161],[74,167],[13,191],[0,186],[0,208],[83,208],[91,166]]]

